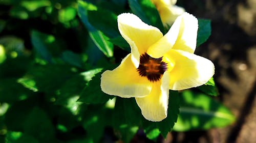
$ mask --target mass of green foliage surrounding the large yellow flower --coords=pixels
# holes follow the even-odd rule
[[[102,71],[130,51],[117,28],[118,14],[132,12],[166,33],[150,0],[0,5],[0,142],[102,142],[109,127],[129,142],[139,129],[156,139],[172,129],[207,130],[234,121],[210,97],[218,95],[213,78],[196,89],[170,91],[162,122],[145,120],[134,99],[101,91]],[[198,46],[210,32],[210,21],[200,19]]]

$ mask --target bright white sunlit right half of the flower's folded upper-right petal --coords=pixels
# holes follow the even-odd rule
[[[173,49],[194,53],[197,46],[198,20],[195,16],[184,13],[181,16],[178,39]]]

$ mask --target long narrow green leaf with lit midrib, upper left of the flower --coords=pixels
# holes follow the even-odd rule
[[[91,39],[106,56],[112,57],[114,45],[108,41],[108,37],[91,25],[88,20],[88,10],[97,10],[97,7],[87,2],[78,1],[78,15],[89,31]]]

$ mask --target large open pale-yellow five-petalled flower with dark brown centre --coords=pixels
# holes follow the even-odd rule
[[[169,89],[198,87],[214,75],[214,64],[194,54],[198,20],[193,15],[179,16],[164,36],[134,14],[120,14],[117,21],[131,53],[116,69],[102,73],[101,90],[123,98],[135,97],[147,120],[167,117]]]

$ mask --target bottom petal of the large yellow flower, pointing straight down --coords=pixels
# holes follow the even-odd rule
[[[136,102],[145,119],[156,122],[162,121],[167,117],[169,79],[169,73],[165,72],[161,81],[154,82],[152,91],[149,95],[142,98],[136,98]]]

